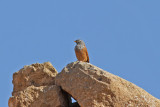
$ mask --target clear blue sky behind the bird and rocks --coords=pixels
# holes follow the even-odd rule
[[[0,107],[12,74],[50,61],[60,72],[85,41],[90,63],[160,99],[159,0],[0,0]]]

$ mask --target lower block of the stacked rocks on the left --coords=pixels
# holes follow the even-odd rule
[[[16,93],[9,99],[9,107],[68,107],[67,95],[63,94],[60,87],[29,86]]]

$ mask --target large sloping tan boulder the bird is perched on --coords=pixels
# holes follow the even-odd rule
[[[145,90],[86,62],[68,64],[56,85],[81,107],[160,107],[160,100]]]

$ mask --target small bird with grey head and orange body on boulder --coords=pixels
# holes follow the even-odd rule
[[[89,63],[89,55],[86,48],[86,45],[83,40],[75,40],[76,46],[74,48],[76,57],[78,61],[88,62]]]

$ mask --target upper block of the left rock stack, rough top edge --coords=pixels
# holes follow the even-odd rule
[[[34,85],[36,87],[54,85],[55,76],[58,74],[51,63],[45,62],[43,64],[32,64],[24,66],[18,72],[13,74],[13,93],[22,91],[25,88]]]

